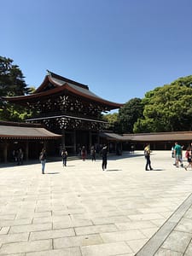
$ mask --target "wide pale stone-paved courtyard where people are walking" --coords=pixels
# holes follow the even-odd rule
[[[0,168],[0,255],[191,256],[192,172],[171,151]],[[186,162],[184,162],[186,164]]]

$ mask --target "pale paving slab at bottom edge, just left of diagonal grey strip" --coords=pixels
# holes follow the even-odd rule
[[[98,256],[98,255],[112,256],[112,255],[119,255],[119,254],[125,254],[125,253],[128,253],[128,255],[129,253],[132,254],[131,248],[124,241],[110,242],[110,243],[92,245],[92,246],[84,246],[84,247],[81,247],[81,251],[83,256]]]

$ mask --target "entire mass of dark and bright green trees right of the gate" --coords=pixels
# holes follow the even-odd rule
[[[192,76],[150,90],[143,99],[131,99],[116,118],[110,127],[119,133],[191,131]]]

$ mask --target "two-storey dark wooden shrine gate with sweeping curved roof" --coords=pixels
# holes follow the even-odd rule
[[[4,100],[36,110],[29,123],[41,123],[49,131],[62,135],[55,140],[55,154],[58,148],[67,148],[75,154],[83,145],[90,150],[99,144],[99,134],[108,123],[102,120],[102,113],[118,109],[123,104],[109,102],[96,96],[88,85],[66,79],[48,72],[43,83],[28,96],[6,97]]]

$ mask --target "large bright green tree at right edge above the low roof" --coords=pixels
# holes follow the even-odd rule
[[[143,118],[137,119],[133,131],[191,131],[192,88],[190,84],[192,84],[192,76],[147,92],[143,99]]]

